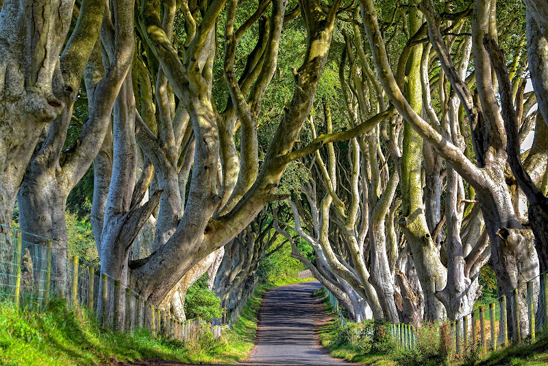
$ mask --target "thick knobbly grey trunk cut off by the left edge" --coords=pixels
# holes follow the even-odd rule
[[[0,15],[0,223],[15,198],[42,130],[64,110],[60,54],[74,1],[5,1]],[[43,138],[43,137],[42,137]],[[0,228],[5,234],[5,228]],[[30,238],[25,238],[25,241]]]

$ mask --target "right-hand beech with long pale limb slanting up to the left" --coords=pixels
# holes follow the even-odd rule
[[[362,1],[362,16],[364,26],[369,37],[369,43],[373,52],[375,66],[379,73],[384,90],[393,101],[395,107],[403,117],[421,134],[428,143],[432,144],[436,151],[447,159],[464,179],[466,179],[477,192],[479,202],[486,223],[486,228],[491,241],[491,260],[497,273],[499,293],[506,293],[526,280],[536,276],[538,265],[534,256],[530,256],[527,249],[527,240],[519,240],[519,250],[514,254],[505,252],[502,255],[501,247],[504,244],[497,231],[502,229],[520,229],[519,222],[512,207],[512,200],[508,186],[503,180],[503,169],[506,166],[506,136],[503,132],[503,124],[498,111],[498,105],[493,94],[493,84],[489,61],[483,48],[482,39],[489,29],[490,1],[477,0],[474,3],[472,18],[472,51],[475,65],[475,80],[478,91],[478,99],[482,112],[474,119],[474,109],[479,104],[471,102],[471,93],[462,80],[458,80],[454,66],[447,57],[440,56],[443,68],[446,70],[449,81],[455,86],[456,93],[469,112],[471,117],[473,140],[475,141],[475,154],[478,166],[475,166],[466,158],[458,147],[443,138],[434,128],[429,126],[406,103],[401,95],[401,90],[390,72],[390,64],[386,58],[386,49],[375,19],[375,9],[372,1]],[[451,71],[453,70],[453,71]],[[447,72],[450,71],[450,72]],[[455,76],[455,77],[453,77]],[[502,260],[502,256],[506,259]],[[514,267],[517,258],[529,263],[529,271],[519,272]]]

